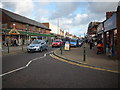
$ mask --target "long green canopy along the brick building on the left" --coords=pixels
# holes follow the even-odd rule
[[[9,34],[10,29],[2,29],[2,31],[4,32],[4,34]],[[19,35],[30,35],[30,36],[47,36],[47,37],[54,37],[53,35],[49,35],[49,34],[40,34],[40,33],[34,33],[34,32],[25,32],[25,31],[19,31]],[[10,34],[11,35],[11,34]],[[18,34],[17,34],[18,35]]]

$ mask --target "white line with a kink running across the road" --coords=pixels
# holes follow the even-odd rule
[[[15,69],[15,70],[12,70],[12,71],[9,71],[9,72],[6,72],[6,73],[4,73],[4,74],[1,74],[0,77],[5,76],[5,75],[8,75],[8,74],[11,74],[11,73],[13,73],[13,72],[17,72],[17,71],[22,70],[22,69],[25,69],[25,68],[27,68],[33,61],[38,60],[38,59],[41,59],[41,58],[44,58],[44,57],[47,56],[47,54],[50,54],[50,53],[52,53],[52,52],[53,52],[53,51],[50,51],[50,52],[48,52],[48,53],[45,53],[42,57],[38,57],[38,58],[32,59],[32,60],[30,60],[25,66],[20,67],[20,68]]]

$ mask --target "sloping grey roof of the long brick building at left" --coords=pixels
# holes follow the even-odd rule
[[[1,8],[0,8],[0,10],[1,10]],[[7,11],[5,9],[2,9],[2,12],[5,13],[6,15],[8,15],[10,18],[12,18],[13,21],[18,21],[18,22],[22,22],[22,23],[25,23],[28,25],[34,25],[34,26],[40,27],[42,29],[51,30],[48,27],[46,27],[45,25],[43,25],[35,20],[29,19],[27,17],[15,14],[15,13]]]

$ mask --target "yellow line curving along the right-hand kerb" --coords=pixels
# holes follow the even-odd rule
[[[80,66],[80,67],[91,68],[91,69],[102,70],[102,71],[108,71],[108,72],[112,72],[112,73],[120,73],[119,71],[115,71],[115,70],[97,68],[97,67],[92,67],[92,66],[87,66],[87,65],[78,64],[78,63],[75,63],[75,62],[72,62],[72,61],[67,61],[67,60],[62,59],[62,58],[59,58],[59,57],[57,57],[57,56],[55,56],[55,55],[53,55],[53,54],[50,54],[50,56],[53,57],[53,58],[55,58],[55,59],[57,59],[57,60],[60,60],[60,61],[63,61],[63,62],[72,64],[72,65]]]

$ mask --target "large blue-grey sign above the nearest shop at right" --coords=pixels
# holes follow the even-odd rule
[[[114,13],[107,21],[104,22],[104,32],[116,28],[116,13]]]

